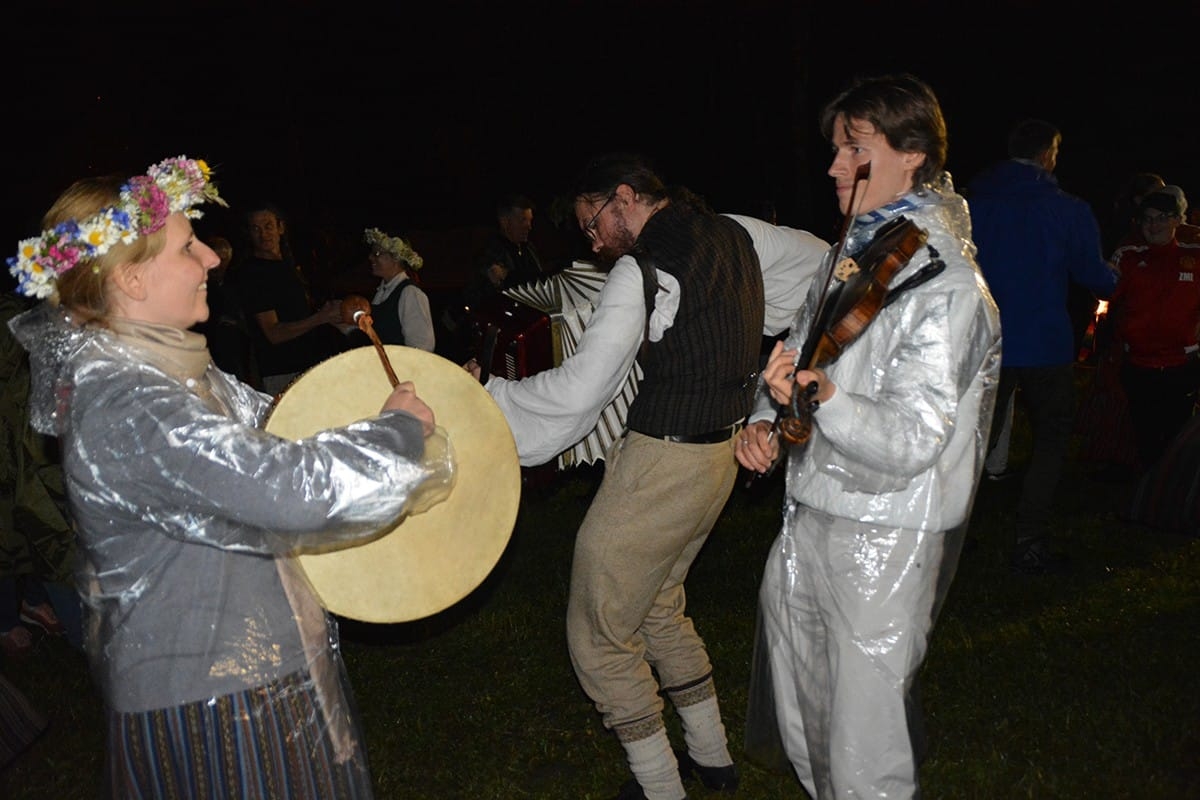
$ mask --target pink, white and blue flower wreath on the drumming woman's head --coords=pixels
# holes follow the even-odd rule
[[[164,224],[172,213],[182,211],[192,219],[202,212],[192,206],[226,201],[209,182],[209,166],[179,156],[167,158],[145,175],[130,179],[121,187],[121,199],[83,221],[67,219],[36,239],[25,239],[17,254],[8,258],[8,271],[17,278],[17,290],[31,297],[48,297],[60,275],[83,259],[100,258],[114,245],[128,245]]]

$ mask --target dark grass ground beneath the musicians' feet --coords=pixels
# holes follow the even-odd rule
[[[734,489],[688,583],[744,800],[805,798],[792,776],[742,756],[778,477]],[[500,564],[454,608],[404,625],[343,621],[378,798],[608,800],[628,777],[575,682],[563,631],[572,537],[596,482],[584,469],[528,492]],[[1132,486],[1070,462],[1056,522],[1073,567],[1014,575],[1019,488],[982,485],[973,546],[935,630],[922,673],[923,796],[1200,798],[1200,540],[1123,523]],[[0,798],[96,798],[102,710],[82,654],[43,639],[2,667],[52,727],[0,772]]]

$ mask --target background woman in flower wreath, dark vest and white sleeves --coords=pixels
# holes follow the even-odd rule
[[[378,228],[367,228],[362,239],[371,248],[371,273],[379,278],[371,299],[371,319],[379,341],[433,353],[437,336],[430,299],[416,276],[425,260],[406,240]]]

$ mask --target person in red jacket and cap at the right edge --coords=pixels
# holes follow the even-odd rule
[[[1200,390],[1200,243],[1177,235],[1187,210],[1178,186],[1151,192],[1139,205],[1145,241],[1114,254],[1121,277],[1109,315],[1142,469],[1187,425]]]

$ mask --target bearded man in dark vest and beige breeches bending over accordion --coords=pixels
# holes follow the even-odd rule
[[[734,434],[754,397],[763,325],[758,258],[745,228],[668,190],[635,156],[593,161],[574,197],[592,251],[612,263],[596,308],[559,367],[518,381],[493,377],[487,390],[521,463],[540,464],[595,426],[638,359],[629,429],[606,456],[576,536],[571,662],[634,772],[619,800],[679,800],[683,776],[733,789],[738,774],[684,581],[737,477]],[[686,751],[672,752],[660,691]]]

